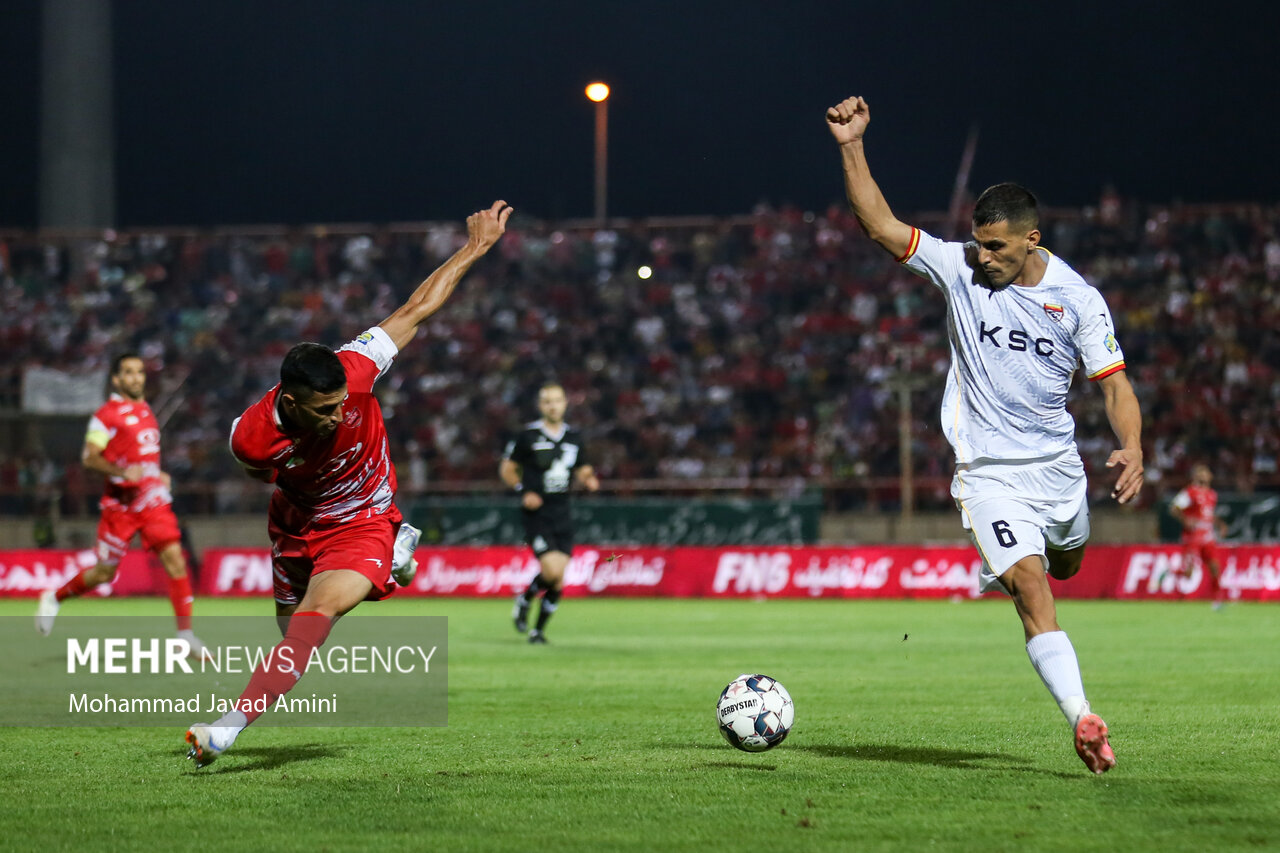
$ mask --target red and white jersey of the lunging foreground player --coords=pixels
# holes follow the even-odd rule
[[[401,520],[387,426],[372,393],[397,352],[379,327],[338,350],[347,398],[342,423],[329,435],[285,432],[276,407],[280,386],[232,424],[236,460],[275,471],[270,515],[283,530],[303,534],[383,515],[392,523]]]

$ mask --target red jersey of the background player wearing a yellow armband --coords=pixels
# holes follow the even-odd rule
[[[102,459],[120,467],[142,466],[142,479],[131,483],[109,476],[102,489],[102,508],[140,511],[173,503],[160,479],[160,424],[145,400],[113,393],[90,418],[84,443],[102,451]]]

